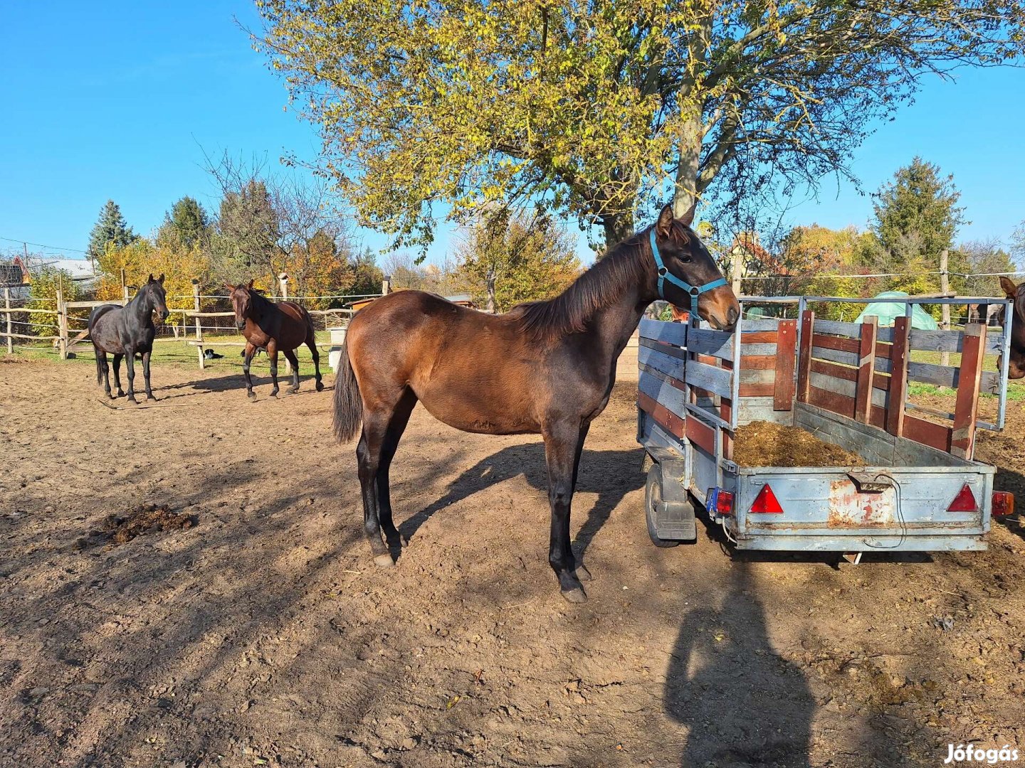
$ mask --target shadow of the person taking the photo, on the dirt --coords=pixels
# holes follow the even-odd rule
[[[681,765],[807,768],[815,699],[801,669],[773,650],[748,566],[735,562],[719,606],[680,628],[663,693],[689,729]]]

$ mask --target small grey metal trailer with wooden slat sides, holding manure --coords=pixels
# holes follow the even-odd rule
[[[1014,500],[994,495],[995,468],[973,455],[978,429],[1003,427],[1010,328],[911,326],[915,304],[980,299],[894,299],[907,306],[890,328],[875,317],[817,319],[810,308],[837,301],[859,300],[742,298],[732,334],[697,318],[642,321],[638,440],[646,452],[646,517],[656,546],[694,541],[697,506],[737,549],[860,557],[986,548],[994,504],[1010,512]],[[745,318],[751,306],[796,317]],[[950,354],[959,355],[958,365],[933,361]],[[994,358],[1002,362],[998,370]],[[909,402],[908,387],[916,382],[953,388],[954,413]],[[998,397],[995,422],[979,419],[982,392]],[[863,464],[738,466],[736,430],[756,421],[807,430]]]

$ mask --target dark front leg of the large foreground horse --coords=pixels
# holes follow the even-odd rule
[[[548,466],[548,504],[551,507],[548,564],[556,571],[563,597],[571,603],[582,603],[587,599],[577,578],[576,561],[570,548],[570,504],[583,442],[582,431],[585,432],[579,421],[564,420],[547,425],[543,432],[544,458]]]

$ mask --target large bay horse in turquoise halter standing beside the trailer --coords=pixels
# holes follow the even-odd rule
[[[364,532],[374,562],[395,565],[404,544],[392,519],[388,468],[417,401],[466,432],[540,433],[551,510],[548,563],[563,596],[583,602],[590,573],[570,548],[570,502],[591,421],[605,410],[616,359],[656,298],[696,308],[732,330],[739,304],[691,229],[692,207],[627,238],[547,301],[504,314],[400,291],[353,317],[334,390],[334,433],[352,440],[363,496]],[[386,542],[381,540],[383,530]]]

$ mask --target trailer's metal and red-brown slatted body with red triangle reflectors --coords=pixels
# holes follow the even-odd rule
[[[742,300],[742,304],[750,301]],[[804,302],[801,305],[804,310]],[[903,383],[897,386],[899,369],[893,369],[891,381],[880,380],[878,374],[880,366],[877,364],[884,364],[883,368],[886,365],[893,367],[894,360],[880,358],[866,362],[864,356],[852,356],[830,364],[832,368],[814,366],[815,350],[827,348],[813,346],[812,338],[794,338],[793,349],[790,349],[789,337],[784,346],[786,334],[781,333],[779,321],[742,323],[743,327],[728,340],[722,338],[726,334],[715,336],[719,332],[702,329],[697,322],[689,327],[657,321],[643,324],[638,440],[646,449],[646,464],[650,466],[646,508],[649,534],[656,545],[674,546],[696,538],[693,505],[696,500],[705,507],[709,519],[723,526],[738,549],[840,553],[986,549],[983,537],[989,530],[996,470],[971,459],[971,440],[967,456],[953,455],[951,451],[956,451],[954,436],[958,434],[953,428],[945,433],[948,450],[893,433],[902,429],[888,430],[891,395],[894,408],[896,398],[902,399],[902,417],[903,407],[910,407],[903,401],[908,380],[906,372],[901,378]],[[789,323],[796,326],[795,321]],[[824,331],[853,333],[853,324],[821,323]],[[767,341],[774,328],[778,347],[770,348],[773,345]],[[811,333],[812,328],[806,316],[803,332]],[[876,349],[887,353],[886,348],[875,347],[876,331],[868,331],[873,353]],[[989,342],[985,340],[985,331],[982,332],[984,347],[980,348],[979,372],[984,353],[1003,356],[1008,348],[1008,331],[1004,329],[998,339]],[[749,338],[754,339],[753,343],[743,339],[745,333],[751,334]],[[941,348],[966,349],[962,340],[956,338],[959,333],[929,332],[926,336],[919,333],[916,343],[928,340],[935,345],[940,339]],[[909,338],[909,329],[905,338]],[[854,348],[852,343],[842,342],[842,336],[836,337],[840,341],[817,334],[814,339],[817,343]],[[710,342],[717,342],[719,346]],[[721,354],[721,367],[719,373],[713,374],[707,369],[711,368],[709,354],[715,354],[716,349]],[[752,353],[748,354],[747,350]],[[807,355],[803,356],[806,350]],[[892,356],[897,357],[896,354]],[[966,352],[966,359],[968,357]],[[791,360],[789,370],[786,367],[788,358]],[[744,373],[745,360],[756,364],[747,374]],[[852,365],[839,370],[842,364]],[[867,365],[869,381],[861,387],[860,398],[856,391],[858,364]],[[904,364],[906,367],[906,359]],[[768,384],[770,377],[762,374],[760,378],[756,372],[774,365],[773,381]],[[915,377],[921,375],[937,376],[933,369],[939,367],[922,365],[928,367],[912,368],[910,380],[917,380]],[[688,370],[689,367],[696,370]],[[819,375],[814,379],[816,370],[846,378],[826,381]],[[1002,370],[1007,371],[1006,365]],[[1002,425],[1007,378],[1000,378],[988,377],[984,388],[1001,396],[998,424]],[[966,374],[961,372],[960,381],[957,379],[954,375],[952,381],[958,385],[958,392],[967,391],[971,382],[966,381]],[[815,392],[825,390],[811,386],[809,381],[829,386],[833,391],[816,395]],[[880,392],[873,389],[873,384],[894,391],[884,392],[885,396],[879,397]],[[767,394],[770,389],[772,396]],[[837,390],[849,392],[851,402],[842,400],[847,395]],[[807,392],[812,392],[811,396]],[[836,412],[849,409],[852,402],[860,402],[862,418]],[[736,408],[734,403],[738,403]],[[855,411],[858,410],[859,406],[855,406]],[[963,422],[963,415],[959,418]],[[942,435],[936,431],[939,427],[921,427],[916,418],[907,419],[909,433],[921,434],[925,430],[924,439],[944,444]],[[974,426],[998,428],[978,421],[975,410],[971,419]],[[865,459],[865,464],[838,468],[739,467],[732,461],[733,432],[738,425],[752,421],[803,428],[826,442],[857,453]],[[868,423],[872,421],[876,424]],[[755,509],[760,495],[767,493],[767,487],[782,511],[775,511],[772,504],[762,504]],[[954,504],[955,500],[959,503]],[[951,511],[951,507],[960,511]],[[769,509],[773,511],[767,511]]]

